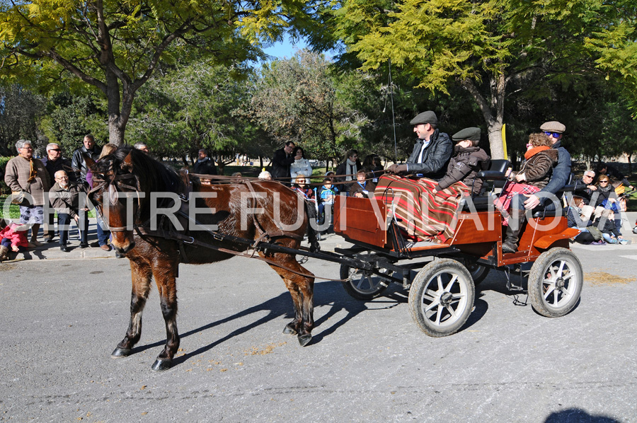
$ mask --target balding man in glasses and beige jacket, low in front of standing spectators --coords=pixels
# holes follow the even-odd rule
[[[87,207],[80,209],[80,196],[86,194],[84,183],[70,183],[69,176],[64,170],[55,173],[55,185],[50,190],[51,204],[57,212],[57,229],[59,231],[59,249],[69,252],[69,224],[74,219],[80,231],[80,243],[88,244],[88,213]]]

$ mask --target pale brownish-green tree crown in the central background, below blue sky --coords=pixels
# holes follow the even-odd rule
[[[339,158],[360,143],[367,119],[348,104],[360,74],[335,75],[321,54],[308,50],[265,64],[252,91],[250,112],[280,148],[294,141],[306,156]]]

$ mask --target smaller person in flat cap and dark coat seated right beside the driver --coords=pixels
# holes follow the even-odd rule
[[[480,128],[462,129],[453,134],[452,139],[456,143],[454,156],[447,166],[447,174],[438,182],[436,192],[462,181],[467,187],[471,188],[473,185],[474,194],[479,194],[482,180],[476,179],[476,174],[481,170],[482,162],[490,160],[486,151],[478,147]]]

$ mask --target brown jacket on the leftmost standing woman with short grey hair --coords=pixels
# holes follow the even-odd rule
[[[26,190],[26,187],[30,174],[30,163],[23,156],[16,156],[6,163],[4,182],[11,188],[11,191],[27,191],[30,195],[33,195],[33,205],[43,206],[45,204],[45,192],[50,190],[51,181],[49,180],[47,168],[45,168],[39,158],[33,158],[33,166],[35,166],[38,174],[31,181],[28,190]]]

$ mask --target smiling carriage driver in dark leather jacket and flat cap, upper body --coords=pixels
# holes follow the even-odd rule
[[[397,163],[389,166],[393,173],[415,173],[425,178],[441,180],[447,172],[449,158],[454,151],[454,145],[449,135],[437,129],[438,117],[435,112],[427,110],[414,117],[413,132],[418,140],[413,146],[407,163]]]

